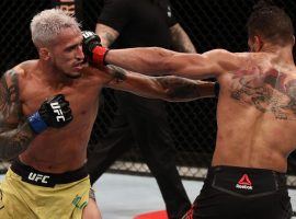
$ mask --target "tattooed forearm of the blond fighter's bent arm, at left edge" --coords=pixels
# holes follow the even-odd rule
[[[35,138],[29,123],[16,129],[0,132],[0,159],[11,160],[25,151]]]

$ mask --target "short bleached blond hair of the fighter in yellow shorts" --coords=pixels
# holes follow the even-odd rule
[[[36,14],[30,24],[32,41],[36,47],[49,45],[62,28],[80,31],[75,18],[60,9],[44,10]]]

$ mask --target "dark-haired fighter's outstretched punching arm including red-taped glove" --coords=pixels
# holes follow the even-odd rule
[[[145,74],[174,74],[190,79],[219,77],[224,72],[238,70],[247,54],[234,54],[214,49],[204,54],[177,53],[159,47],[106,49],[100,45],[99,36],[86,32],[83,51],[93,66],[112,64]]]

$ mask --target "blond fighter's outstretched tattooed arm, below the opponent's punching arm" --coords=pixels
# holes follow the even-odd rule
[[[109,66],[109,73],[112,79],[106,87],[128,91],[144,97],[185,102],[215,96],[213,82],[173,76],[147,77],[115,66]]]

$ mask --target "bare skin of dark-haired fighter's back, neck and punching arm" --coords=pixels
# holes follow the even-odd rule
[[[286,159],[296,149],[296,68],[291,44],[265,43],[258,53],[214,49],[194,55],[156,47],[113,49],[105,61],[146,74],[216,77],[220,94],[212,164],[286,172]]]

